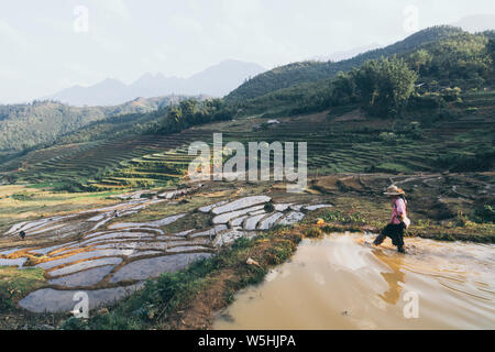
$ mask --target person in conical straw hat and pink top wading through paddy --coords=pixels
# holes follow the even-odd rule
[[[373,241],[373,244],[380,245],[386,237],[389,237],[392,243],[397,246],[397,250],[400,253],[406,253],[404,249],[404,230],[410,224],[410,220],[407,218],[406,194],[397,186],[389,186],[384,195],[389,196],[392,200],[392,219],[391,223]]]

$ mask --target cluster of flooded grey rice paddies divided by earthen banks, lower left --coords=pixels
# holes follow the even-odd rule
[[[174,232],[164,228],[187,219],[194,210],[146,222],[130,221],[130,216],[151,205],[173,209],[177,202],[172,200],[198,188],[151,199],[141,198],[139,191],[122,196],[127,201],[117,206],[12,226],[0,234],[0,267],[42,268],[46,279],[44,287],[29,293],[19,306],[33,312],[70,311],[73,298],[81,290],[88,293],[91,309],[112,304],[142,287],[146,279],[180,271],[235,239],[253,238],[278,223],[293,224],[315,207],[331,207],[273,204],[274,211],[266,211],[270,197],[250,196],[197,209],[210,217],[211,224],[206,229]],[[11,249],[10,243],[21,231],[28,241],[16,241],[20,244]]]

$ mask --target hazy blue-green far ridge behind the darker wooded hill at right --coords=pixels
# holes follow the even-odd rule
[[[268,92],[288,88],[294,85],[317,81],[334,77],[339,72],[348,72],[359,67],[369,59],[377,59],[382,56],[406,53],[414,51],[427,43],[444,40],[464,33],[460,28],[448,25],[432,26],[419,31],[404,41],[377,48],[353,58],[341,62],[301,62],[274,68],[248,80],[235,90],[231,91],[226,99],[228,101],[240,101],[264,96]]]

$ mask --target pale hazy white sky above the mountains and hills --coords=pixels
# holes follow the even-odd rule
[[[272,68],[479,13],[495,1],[0,0],[0,103],[227,58]]]

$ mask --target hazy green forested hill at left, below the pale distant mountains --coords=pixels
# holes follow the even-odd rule
[[[95,121],[153,111],[178,99],[177,96],[138,98],[113,107],[73,107],[56,101],[0,106],[0,157],[53,143],[58,136]]]

